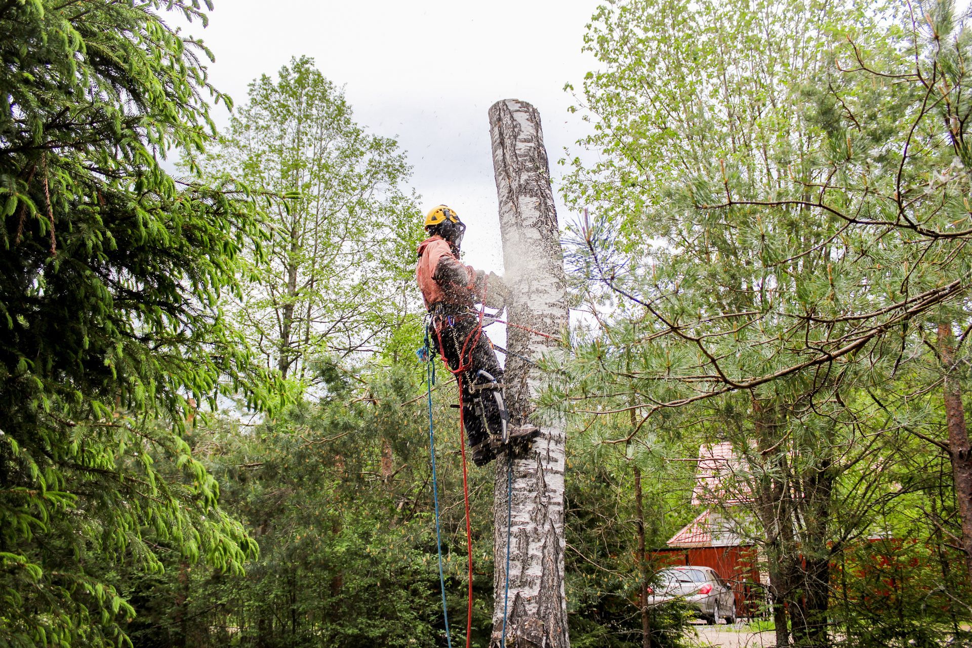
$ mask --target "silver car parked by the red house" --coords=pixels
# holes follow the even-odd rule
[[[685,565],[668,567],[655,574],[654,585],[648,590],[648,605],[683,600],[698,611],[710,625],[725,619],[736,621],[736,596],[732,588],[710,567]]]

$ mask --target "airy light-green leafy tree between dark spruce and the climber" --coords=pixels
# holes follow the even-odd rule
[[[418,306],[409,167],[394,139],[354,121],[311,58],[250,85],[210,161],[267,196],[270,240],[246,256],[233,311],[268,366],[319,381],[315,361],[373,353],[402,324],[414,328],[404,317]]]

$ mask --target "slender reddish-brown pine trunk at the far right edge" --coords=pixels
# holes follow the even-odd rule
[[[962,549],[965,550],[965,570],[972,582],[972,454],[969,452],[969,435],[965,426],[965,407],[955,371],[955,345],[951,323],[938,324],[938,353],[945,371],[943,392],[945,396],[945,420],[949,426],[949,458],[955,480],[955,501],[962,525]]]

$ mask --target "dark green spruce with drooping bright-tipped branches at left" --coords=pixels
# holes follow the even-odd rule
[[[185,438],[190,396],[261,400],[215,306],[259,220],[161,166],[226,101],[164,20],[206,9],[0,5],[0,644],[121,644],[133,609],[107,565],[239,569],[255,548]]]

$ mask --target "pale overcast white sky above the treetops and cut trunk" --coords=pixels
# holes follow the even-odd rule
[[[536,106],[556,177],[563,148],[584,132],[563,88],[594,68],[580,49],[599,2],[215,1],[209,26],[190,29],[216,54],[217,87],[239,105],[254,78],[312,56],[345,86],[359,123],[398,139],[423,212],[446,203],[468,223],[467,262],[501,269],[487,109],[505,98]]]

